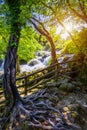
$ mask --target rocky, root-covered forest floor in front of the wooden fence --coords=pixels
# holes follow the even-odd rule
[[[13,110],[0,130],[87,130],[87,91],[46,87],[24,98],[31,117]],[[20,113],[20,114],[19,114]]]

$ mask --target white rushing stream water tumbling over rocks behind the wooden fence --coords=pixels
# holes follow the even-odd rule
[[[65,60],[72,60],[74,57],[74,54],[61,54],[61,50],[56,51],[56,54],[61,55],[60,58],[58,58],[58,62],[62,63]],[[34,70],[45,68],[49,65],[51,59],[51,52],[48,51],[39,51],[35,53],[35,58],[31,59],[26,64],[20,65],[20,73],[23,72],[31,72]],[[67,67],[67,64],[62,64],[62,68]],[[4,74],[4,60],[0,59],[0,78],[3,77]]]

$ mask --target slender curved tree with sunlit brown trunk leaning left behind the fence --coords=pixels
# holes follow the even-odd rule
[[[44,22],[42,22],[43,19],[46,19],[46,15],[45,15],[46,12],[43,13],[43,15],[41,14],[43,12],[43,9],[40,10],[40,8],[41,8],[41,1],[37,0],[37,2],[38,2],[37,6],[35,6],[35,4],[36,4],[35,1],[31,2],[31,6],[30,6],[30,4],[27,5],[26,11],[25,11],[25,19],[29,23],[32,23],[33,26],[35,27],[35,29],[40,33],[40,35],[45,36],[46,39],[49,41],[50,47],[51,47],[51,52],[52,52],[51,53],[52,54],[52,62],[54,63],[54,62],[57,61],[56,60],[55,45],[54,45],[52,37],[50,36],[50,33],[47,31],[46,27],[44,26],[45,25]],[[33,17],[31,15],[27,15],[29,10],[32,10],[32,16]],[[39,18],[40,18],[40,20],[39,20]],[[33,19],[33,21],[31,19]],[[36,24],[36,23],[38,23],[38,24]]]

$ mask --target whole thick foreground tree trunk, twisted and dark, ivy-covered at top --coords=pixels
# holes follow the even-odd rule
[[[6,0],[6,3],[9,6],[11,32],[5,56],[3,85],[6,101],[9,102],[12,107],[20,100],[20,96],[16,88],[16,57],[21,31],[21,1]]]

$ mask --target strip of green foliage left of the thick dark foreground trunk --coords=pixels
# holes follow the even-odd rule
[[[9,25],[6,24],[6,10],[7,6],[0,3],[0,58],[4,58],[6,52],[7,41],[9,39]]]

